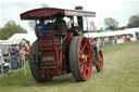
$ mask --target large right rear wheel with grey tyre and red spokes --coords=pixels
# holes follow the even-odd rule
[[[70,47],[70,66],[77,81],[90,78],[92,69],[90,43],[85,37],[73,38]]]

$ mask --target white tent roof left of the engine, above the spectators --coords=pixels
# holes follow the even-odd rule
[[[33,43],[37,38],[36,38],[35,34],[14,34],[10,39],[2,42],[2,44],[20,43],[23,39]]]

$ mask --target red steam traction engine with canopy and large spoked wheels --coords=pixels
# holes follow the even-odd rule
[[[58,34],[59,31],[53,29],[53,22],[58,15],[70,19],[70,27],[65,35]],[[35,9],[21,14],[22,19],[33,19],[37,23],[43,17],[48,24],[51,24],[49,31],[43,35],[37,34],[37,40],[29,52],[30,70],[38,82],[70,73],[75,80],[85,81],[91,76],[92,65],[98,71],[103,69],[101,50],[84,37],[86,31],[83,18],[94,16],[94,12],[55,8]]]

